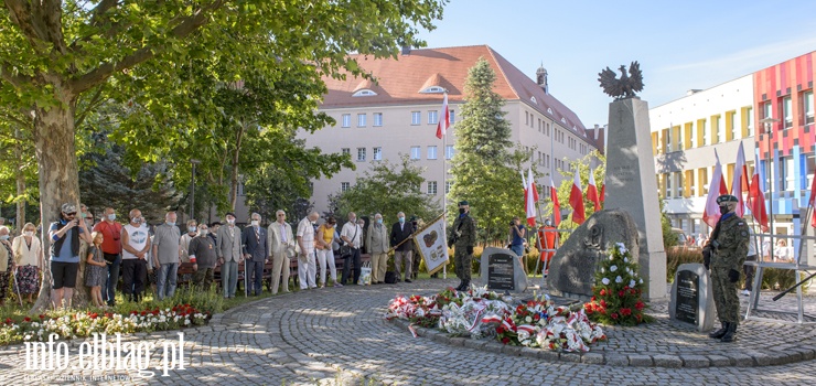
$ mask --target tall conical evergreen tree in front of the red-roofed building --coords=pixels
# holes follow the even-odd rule
[[[448,207],[450,223],[458,202],[466,200],[485,242],[506,237],[511,218],[524,215],[518,170],[527,154],[513,149],[511,122],[502,110],[504,99],[493,92],[495,81],[495,72],[483,57],[468,71],[462,120],[454,128],[457,151]]]

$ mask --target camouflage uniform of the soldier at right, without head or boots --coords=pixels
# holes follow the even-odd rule
[[[723,216],[724,217],[724,216]],[[737,282],[728,277],[730,270],[741,271],[748,255],[749,233],[745,222],[730,213],[721,219],[720,232],[716,238],[719,247],[711,254],[711,285],[715,305],[720,322],[740,322],[740,299],[737,296]]]

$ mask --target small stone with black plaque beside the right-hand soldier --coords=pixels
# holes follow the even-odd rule
[[[711,279],[706,267],[699,262],[677,267],[668,303],[669,319],[706,332],[713,328],[715,314]]]

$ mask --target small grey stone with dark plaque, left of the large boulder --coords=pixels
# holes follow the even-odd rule
[[[494,291],[524,292],[527,289],[527,275],[522,261],[513,250],[487,247],[482,251],[481,279],[487,289]]]

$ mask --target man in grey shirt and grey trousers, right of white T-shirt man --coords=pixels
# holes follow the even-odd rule
[[[159,300],[172,298],[179,277],[179,227],[175,212],[164,215],[164,224],[155,227],[153,236],[153,267],[158,269],[155,291]]]

